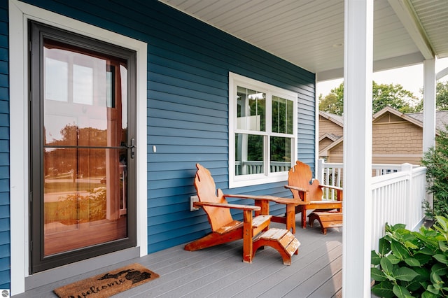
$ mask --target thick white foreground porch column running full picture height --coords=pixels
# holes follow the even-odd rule
[[[373,1],[345,0],[343,297],[370,297]]]

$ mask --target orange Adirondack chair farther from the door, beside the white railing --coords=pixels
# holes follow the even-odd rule
[[[311,183],[311,169],[309,165],[304,164],[297,160],[295,162],[295,166],[293,166],[288,173],[288,185],[285,185],[292,193],[294,199],[301,199],[307,204],[298,205],[295,207],[295,213],[302,213],[302,227],[307,227],[307,211],[314,209],[314,215],[311,217],[316,218],[316,214],[318,215],[321,211],[330,211],[332,209],[337,209],[333,218],[340,218],[339,226],[342,224],[342,188],[335,187],[331,185],[321,185],[317,179],[315,179]],[[336,200],[323,200],[322,199],[322,187],[329,187],[335,189],[337,192]],[[328,212],[327,212],[328,213]],[[318,216],[317,216],[317,218]],[[319,220],[320,222],[320,220]],[[311,222],[310,222],[311,223]],[[321,227],[324,232],[324,227],[321,222]],[[332,225],[335,227],[336,225]]]

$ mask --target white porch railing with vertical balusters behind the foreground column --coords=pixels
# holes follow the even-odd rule
[[[342,164],[318,160],[316,177],[327,185],[342,185]],[[372,164],[372,250],[384,236],[384,225],[405,224],[416,229],[424,218],[426,167],[412,164]],[[326,195],[326,197],[325,197]],[[324,192],[325,198],[332,194]]]

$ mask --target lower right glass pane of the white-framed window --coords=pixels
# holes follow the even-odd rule
[[[292,139],[271,136],[271,172],[288,171],[291,165]]]

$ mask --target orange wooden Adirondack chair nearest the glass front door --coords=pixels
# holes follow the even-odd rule
[[[214,179],[208,169],[196,164],[195,187],[198,202],[195,207],[204,208],[211,225],[211,233],[197,239],[185,246],[185,250],[200,250],[218,244],[243,239],[243,262],[251,263],[253,259],[253,237],[269,229],[271,215],[269,215],[269,199],[260,199],[254,196],[238,196],[223,194],[221,189],[216,190]],[[243,199],[258,200],[258,206],[228,204],[226,197],[240,197]],[[243,211],[244,220],[233,220],[230,209]],[[253,217],[253,211],[262,211],[263,215]]]

